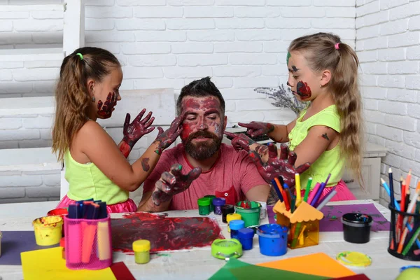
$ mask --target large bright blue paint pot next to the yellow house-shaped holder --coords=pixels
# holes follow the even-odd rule
[[[257,230],[262,255],[284,255],[287,252],[288,228],[276,223],[260,225]]]

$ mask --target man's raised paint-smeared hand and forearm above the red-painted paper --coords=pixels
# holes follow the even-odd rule
[[[166,211],[174,195],[190,188],[191,183],[200,176],[202,169],[196,167],[188,174],[182,174],[182,165],[172,165],[169,172],[163,172],[155,183],[153,192],[144,194],[137,211]]]

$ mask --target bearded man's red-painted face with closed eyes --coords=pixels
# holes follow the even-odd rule
[[[181,139],[186,151],[196,160],[210,158],[221,146],[224,116],[216,97],[185,97],[181,103],[186,113]]]

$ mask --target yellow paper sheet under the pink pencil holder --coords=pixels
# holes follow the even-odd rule
[[[25,280],[116,280],[111,268],[99,270],[71,270],[62,258],[62,248],[48,248],[20,253]]]

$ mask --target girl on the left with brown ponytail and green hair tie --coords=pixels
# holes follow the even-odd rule
[[[130,165],[131,148],[144,134],[150,133],[154,118],[146,109],[130,124],[124,124],[124,138],[117,146],[96,122],[111,118],[121,100],[123,81],[120,62],[108,50],[85,47],[64,58],[55,91],[55,123],[52,151],[64,160],[69,192],[57,208],[77,200],[102,200],[109,213],[132,212],[136,204],[129,192],[137,190],[153,171],[162,151],[181,133],[182,118],[176,118],[168,130],[159,127],[158,137],[141,157]]]

